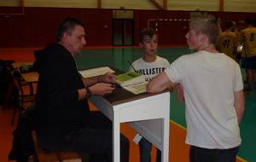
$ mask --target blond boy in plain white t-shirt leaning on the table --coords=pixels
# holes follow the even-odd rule
[[[198,52],[179,57],[147,86],[149,93],[177,83],[183,86],[190,162],[236,162],[241,144],[241,70],[236,61],[215,49],[220,32],[212,15],[191,17],[185,38],[189,49]]]

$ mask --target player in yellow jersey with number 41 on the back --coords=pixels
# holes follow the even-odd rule
[[[226,30],[225,32],[222,32],[218,38],[218,47],[221,53],[230,56],[230,58],[236,61],[238,41],[236,34],[231,32],[233,25],[233,21],[231,20],[225,22]]]

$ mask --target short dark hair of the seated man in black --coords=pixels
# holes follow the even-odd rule
[[[62,38],[64,32],[67,32],[68,35],[71,35],[75,26],[83,26],[84,27],[84,23],[80,20],[70,18],[70,17],[62,20],[61,24],[58,27],[57,33],[56,33],[56,40],[58,42],[61,41],[61,38]]]

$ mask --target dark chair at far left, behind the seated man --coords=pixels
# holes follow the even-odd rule
[[[19,108],[20,114],[23,112],[25,107],[30,107],[34,104],[36,101],[36,95],[30,94],[30,95],[25,95],[24,91],[22,89],[22,86],[20,84],[20,78],[17,78],[13,76],[14,84],[16,89],[18,90],[17,96],[15,98],[17,101],[19,101],[19,107],[15,107],[13,119],[12,119],[12,124],[14,124],[15,121],[15,114],[16,114],[16,109]],[[19,119],[20,119],[20,114],[19,114]]]

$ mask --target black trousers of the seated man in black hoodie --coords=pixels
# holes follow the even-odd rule
[[[57,137],[38,136],[44,148],[55,151],[90,153],[90,162],[112,162],[112,122],[99,111],[90,112],[90,122],[82,129]],[[120,161],[129,161],[129,140],[120,134]]]

